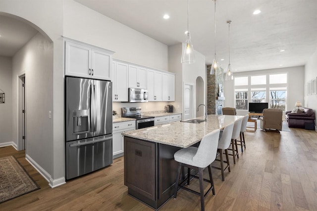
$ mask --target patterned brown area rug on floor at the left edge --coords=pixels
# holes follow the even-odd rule
[[[0,158],[0,203],[40,189],[13,156]]]

